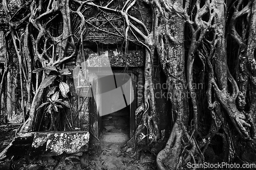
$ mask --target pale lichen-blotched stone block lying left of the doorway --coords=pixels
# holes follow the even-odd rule
[[[64,152],[67,154],[86,152],[88,150],[89,132],[35,132],[32,150],[41,150],[43,156],[56,156]]]

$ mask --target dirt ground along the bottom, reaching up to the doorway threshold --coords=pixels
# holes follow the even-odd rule
[[[0,151],[9,144],[18,128],[19,125],[0,126]],[[0,169],[156,169],[155,156],[161,150],[162,144],[153,147],[131,147],[125,144],[129,140],[129,134],[113,133],[111,130],[113,131],[104,129],[99,140],[91,136],[88,152],[52,157],[31,157],[29,153],[25,153],[0,162]]]

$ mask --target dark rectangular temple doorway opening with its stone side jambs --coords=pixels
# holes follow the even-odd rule
[[[123,75],[121,70],[114,70],[113,73],[115,76]],[[101,77],[109,75],[108,72],[105,74],[98,74],[97,79],[92,81],[92,86],[97,87],[92,89],[93,94],[104,93],[104,98],[101,98],[101,95],[93,95],[93,98],[90,100],[90,131],[97,138],[100,138],[100,134],[110,136],[120,134],[119,136],[121,136],[121,138],[128,140],[134,135],[136,128],[135,110],[137,108],[137,75],[133,74],[131,70],[128,70],[127,74],[129,74],[129,79],[131,80],[129,81],[130,84],[122,86],[122,95],[120,95],[120,92],[116,93],[115,90],[104,89],[106,83],[104,83]],[[116,82],[119,87],[123,82],[119,82],[120,77],[117,78],[118,79],[114,82]],[[126,87],[131,86],[133,86],[133,90],[131,90],[129,94],[127,93]],[[116,111],[118,108],[120,110]]]

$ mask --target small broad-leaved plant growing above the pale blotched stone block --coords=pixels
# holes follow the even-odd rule
[[[68,98],[69,85],[63,81],[63,76],[71,76],[71,71],[68,68],[59,69],[54,66],[46,66],[44,68],[38,68],[33,72],[45,71],[47,77],[40,84],[41,88],[49,88],[47,91],[47,101],[42,103],[37,109],[47,106],[46,112],[51,115],[51,124],[49,131],[56,131],[54,114],[59,112],[59,109],[65,107],[70,108],[70,103],[66,99]]]

